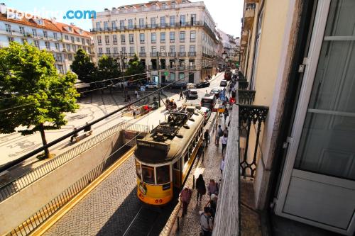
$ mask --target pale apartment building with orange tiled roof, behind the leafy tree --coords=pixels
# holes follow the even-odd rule
[[[62,74],[70,70],[75,52],[80,48],[96,60],[89,32],[49,19],[7,18],[6,6],[1,4],[0,7],[0,47],[9,47],[11,41],[33,43],[40,50],[53,53],[55,67]]]

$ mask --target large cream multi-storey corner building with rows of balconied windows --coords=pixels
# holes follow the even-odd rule
[[[91,33],[98,55],[124,64],[138,55],[153,80],[198,83],[216,72],[218,38],[202,1],[150,1],[97,12]]]

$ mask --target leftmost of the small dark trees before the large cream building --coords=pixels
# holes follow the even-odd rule
[[[70,69],[77,74],[77,77],[79,77],[82,82],[90,83],[97,80],[97,67],[95,67],[94,62],[90,60],[87,52],[81,48],[77,50]]]

